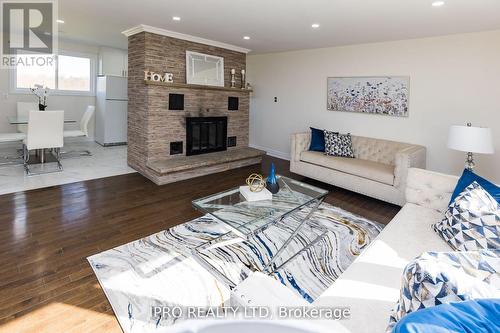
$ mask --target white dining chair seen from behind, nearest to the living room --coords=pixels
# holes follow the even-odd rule
[[[64,111],[30,111],[28,133],[24,140],[24,168],[28,175],[33,175],[29,168],[30,151],[41,150],[40,159],[44,163],[45,149],[55,152],[54,158],[58,170],[62,171],[60,161],[61,148],[64,145]],[[47,173],[47,172],[42,172]]]

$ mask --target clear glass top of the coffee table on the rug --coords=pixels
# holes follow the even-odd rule
[[[193,206],[236,233],[249,235],[328,194],[326,190],[284,176],[277,178],[280,190],[272,200],[246,201],[237,187],[194,200]]]

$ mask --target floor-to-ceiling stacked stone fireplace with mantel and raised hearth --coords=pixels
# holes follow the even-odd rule
[[[246,54],[141,29],[128,36],[128,164],[166,184],[259,163],[264,153],[248,147],[250,91],[230,88]],[[223,57],[225,86],[187,84],[186,51]],[[145,71],[174,82],[145,81]]]

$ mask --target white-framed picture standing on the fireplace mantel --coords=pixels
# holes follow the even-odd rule
[[[186,83],[224,87],[224,58],[186,51]]]

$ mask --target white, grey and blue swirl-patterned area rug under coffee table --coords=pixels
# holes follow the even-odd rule
[[[190,255],[190,249],[229,231],[209,215],[101,252],[88,261],[123,331],[156,332],[173,321],[153,318],[153,306],[230,305],[230,287],[221,274],[237,284],[252,271],[262,271],[306,215],[307,211],[300,211],[247,241],[204,250],[204,260]],[[328,204],[319,207],[308,225],[287,246],[284,258],[299,252],[304,242],[316,239],[315,225],[324,226],[328,232],[271,276],[312,302],[380,233],[383,225]]]

